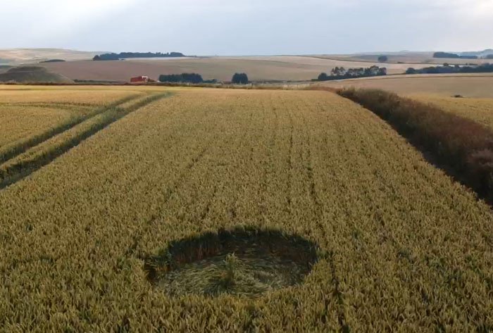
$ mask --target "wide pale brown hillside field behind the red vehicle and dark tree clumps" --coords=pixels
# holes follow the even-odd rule
[[[381,65],[378,63],[373,63]],[[157,79],[161,74],[198,73],[204,80],[229,81],[236,72],[247,73],[250,80],[311,80],[335,66],[370,67],[372,63],[334,61],[306,56],[257,56],[211,58],[128,59],[125,61],[70,61],[44,63],[44,67],[73,80],[127,82],[136,75]],[[404,73],[406,64],[385,64],[390,74]],[[419,67],[419,66],[418,66]],[[423,66],[425,67],[425,66]]]

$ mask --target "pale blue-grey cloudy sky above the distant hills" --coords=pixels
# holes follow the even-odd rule
[[[0,49],[260,55],[493,47],[493,0],[0,0],[0,12]]]

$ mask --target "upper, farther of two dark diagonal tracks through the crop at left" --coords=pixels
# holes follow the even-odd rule
[[[107,106],[99,106],[95,108],[92,112],[87,113],[87,115],[75,117],[66,122],[63,122],[60,125],[53,127],[47,130],[46,132],[43,132],[42,134],[36,135],[35,137],[31,137],[28,138],[27,140],[17,142],[11,145],[10,147],[8,147],[5,151],[0,151],[0,164],[5,163],[6,161],[15,158],[16,156],[19,156],[22,153],[25,153],[25,151],[27,151],[28,149],[37,146],[39,144],[42,144],[43,142],[46,142],[47,140],[51,139],[52,137],[55,137],[58,134],[70,130],[71,128],[79,125],[85,120],[89,120],[90,118],[93,118],[96,115],[111,110],[111,108],[116,108],[123,103],[133,101],[137,98],[139,98],[138,94],[132,94],[131,96],[126,96],[123,99],[118,99],[118,101],[108,104]]]

